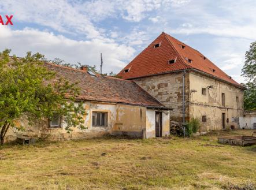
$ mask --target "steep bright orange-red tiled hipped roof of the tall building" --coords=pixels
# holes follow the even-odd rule
[[[159,47],[155,48],[154,44],[158,43]],[[169,64],[169,60],[172,59],[175,59],[175,63]],[[191,62],[188,62],[188,59]],[[129,71],[125,72],[127,69]],[[118,73],[118,76],[121,76],[123,79],[135,79],[183,69],[198,70],[210,74],[217,79],[242,87],[198,50],[193,49],[164,32],[125,66]]]

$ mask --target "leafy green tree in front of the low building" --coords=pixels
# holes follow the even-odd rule
[[[76,84],[57,79],[54,72],[43,66],[43,55],[39,53],[28,52],[25,58],[10,57],[9,53],[10,50],[0,53],[1,144],[8,129],[15,128],[15,121],[20,118],[26,118],[32,125],[58,114],[68,132],[72,126],[84,129],[85,110],[81,102],[75,102],[79,95]],[[24,126],[20,128],[23,129]]]

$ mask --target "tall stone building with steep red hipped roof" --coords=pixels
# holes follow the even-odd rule
[[[239,128],[244,87],[199,51],[164,32],[118,75],[172,109],[170,121],[198,118],[200,131]]]

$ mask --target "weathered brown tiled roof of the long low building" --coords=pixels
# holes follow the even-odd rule
[[[101,76],[101,74],[90,74],[85,70],[55,64],[44,63],[44,66],[56,72],[57,78],[64,77],[71,83],[78,82],[80,95],[77,99],[165,108],[133,81]]]

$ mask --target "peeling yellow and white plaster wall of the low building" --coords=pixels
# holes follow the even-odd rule
[[[65,124],[61,128],[49,128],[48,121],[42,120],[32,126],[27,120],[19,120],[16,126],[23,126],[25,131],[15,128],[9,129],[6,141],[15,140],[19,135],[40,137],[47,140],[87,139],[99,137],[106,133],[129,135],[133,137],[146,137],[146,107],[128,106],[116,103],[84,102],[84,126],[87,129],[72,128],[71,133],[65,130]],[[107,126],[92,126],[92,111],[107,112]],[[150,116],[147,116],[148,118]],[[165,125],[165,129],[169,126]],[[169,131],[169,129],[168,129]]]

